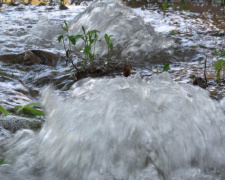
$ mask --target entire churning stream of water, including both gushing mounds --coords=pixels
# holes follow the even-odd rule
[[[83,25],[97,28],[101,38],[113,35],[113,58],[128,58],[133,74],[74,83],[63,59],[55,67],[0,62],[1,105],[10,110],[40,101],[47,114],[40,131],[0,129],[0,179],[224,180],[225,100],[187,83],[190,73],[202,73],[205,56],[210,79],[216,60],[211,52],[224,43],[219,27],[213,20],[204,26],[189,11],[168,10],[163,17],[155,5],[145,10],[120,1],[83,5],[66,11],[4,5],[0,54],[39,49],[62,55],[57,36],[66,20],[73,34]],[[104,56],[105,45],[96,51]],[[151,69],[167,62],[169,73]]]

